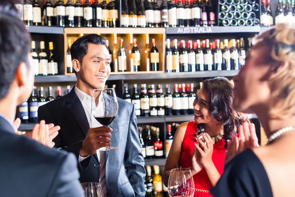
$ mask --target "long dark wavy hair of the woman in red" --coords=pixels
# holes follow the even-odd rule
[[[224,77],[206,79],[203,87],[209,94],[209,111],[211,117],[223,125],[224,139],[231,140],[237,128],[244,122],[250,123],[246,114],[236,112],[233,107],[234,85]],[[204,127],[198,125],[199,128]]]

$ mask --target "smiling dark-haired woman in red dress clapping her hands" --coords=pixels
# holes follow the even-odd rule
[[[194,121],[181,124],[174,136],[164,168],[166,186],[171,169],[190,168],[195,197],[212,197],[209,190],[223,173],[226,142],[249,121],[233,109],[233,90],[234,85],[223,77],[203,82],[194,101]]]

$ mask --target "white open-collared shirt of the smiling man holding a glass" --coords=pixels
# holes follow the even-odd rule
[[[91,115],[91,100],[92,97],[90,97],[89,95],[85,94],[84,92],[82,92],[81,90],[78,89],[77,85],[75,86],[75,93],[78,96],[78,98],[80,99],[84,111],[86,113],[86,117],[89,123],[89,128],[96,128],[96,127],[102,127],[102,125],[94,118],[94,116]],[[98,106],[101,109],[104,109],[103,103],[101,102],[103,99],[102,94],[99,97],[99,102],[98,102]],[[107,186],[106,186],[106,165],[105,165],[105,151],[96,151],[96,155],[99,161],[99,182],[102,188],[102,191],[104,192],[104,196],[106,196],[106,192],[107,192]],[[89,156],[88,156],[89,157]],[[85,160],[88,157],[81,157],[79,155],[79,163],[82,162],[83,160]]]

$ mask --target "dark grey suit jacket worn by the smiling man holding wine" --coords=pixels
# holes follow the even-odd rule
[[[38,109],[39,120],[60,126],[54,139],[56,147],[67,150],[79,158],[79,151],[89,130],[83,105],[75,93],[53,100]],[[106,186],[108,196],[144,197],[145,168],[138,138],[134,105],[118,98],[118,115],[110,127],[112,146],[117,150],[105,153]],[[78,163],[81,182],[99,182],[99,163],[96,154]]]

